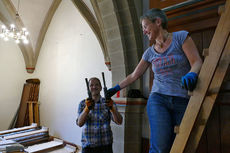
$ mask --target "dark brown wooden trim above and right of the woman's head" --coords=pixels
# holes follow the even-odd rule
[[[189,32],[204,30],[217,26],[219,21],[218,8],[226,0],[177,0],[150,1],[150,8],[160,8],[168,17],[168,30],[187,30]]]

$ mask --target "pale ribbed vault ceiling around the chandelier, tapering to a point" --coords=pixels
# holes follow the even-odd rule
[[[26,27],[29,31],[27,45],[19,44],[24,56],[27,71],[32,73],[40,52],[49,23],[62,0],[0,0],[0,23],[9,26]],[[93,11],[90,0],[81,1]],[[19,4],[19,5],[18,5]],[[74,5],[74,2],[73,2]],[[20,18],[16,21],[15,14]],[[92,12],[94,14],[94,12]]]

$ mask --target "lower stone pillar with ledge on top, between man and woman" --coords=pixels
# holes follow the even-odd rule
[[[142,98],[114,98],[123,116],[122,125],[111,123],[114,153],[141,153],[142,117],[146,100]]]

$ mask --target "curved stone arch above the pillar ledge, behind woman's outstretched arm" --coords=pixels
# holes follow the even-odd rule
[[[97,36],[105,64],[112,71],[113,85],[117,84],[135,69],[143,50],[134,1],[91,0],[96,18],[82,0],[72,1]],[[142,81],[136,81],[127,90],[132,88],[142,89]],[[120,96],[126,97],[126,91]]]

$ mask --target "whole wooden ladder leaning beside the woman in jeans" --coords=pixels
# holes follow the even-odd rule
[[[226,1],[170,153],[195,153],[230,64],[230,0]]]

